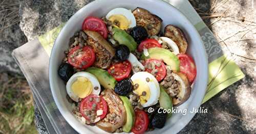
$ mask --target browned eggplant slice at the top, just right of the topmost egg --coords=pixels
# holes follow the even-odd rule
[[[133,14],[137,25],[143,26],[147,30],[149,36],[157,35],[159,33],[162,23],[160,17],[139,7],[133,11]]]

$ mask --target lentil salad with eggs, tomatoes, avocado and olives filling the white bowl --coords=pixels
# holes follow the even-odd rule
[[[165,109],[189,97],[196,66],[185,54],[188,43],[177,26],[161,33],[163,20],[146,9],[113,10],[118,13],[85,18],[65,51],[58,72],[72,112],[81,123],[111,133],[162,128],[169,115],[147,109],[163,105],[161,92],[168,95]]]

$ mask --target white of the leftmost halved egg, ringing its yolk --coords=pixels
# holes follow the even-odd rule
[[[73,99],[76,102],[78,102],[78,99],[79,99],[79,97],[76,94],[74,94],[74,92],[73,92],[73,90],[71,88],[72,84],[75,81],[77,81],[78,77],[86,77],[86,78],[88,78],[89,81],[92,83],[92,86],[93,86],[91,94],[99,95],[99,93],[100,93],[100,84],[99,84],[98,79],[93,74],[91,74],[89,72],[77,72],[77,73],[75,73],[74,75],[72,75],[70,77],[70,79],[69,79],[69,81],[68,81],[68,83],[66,85],[67,93],[68,93],[68,95],[69,95],[69,97],[71,99]],[[95,90],[94,87],[98,87],[98,89]]]

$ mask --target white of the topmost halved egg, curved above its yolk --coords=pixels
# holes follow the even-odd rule
[[[110,16],[115,15],[115,14],[121,14],[124,17],[126,17],[126,19],[130,21],[129,28],[133,28],[134,26],[136,26],[136,19],[131,10],[128,10],[125,8],[112,9],[108,14],[106,14],[106,19],[109,19]]]

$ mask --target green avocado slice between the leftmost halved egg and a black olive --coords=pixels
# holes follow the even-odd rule
[[[111,76],[108,71],[96,67],[89,67],[86,69],[86,71],[95,75],[100,85],[102,85],[105,89],[115,88],[116,79]]]

